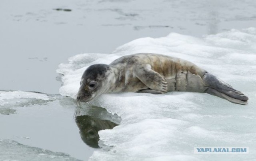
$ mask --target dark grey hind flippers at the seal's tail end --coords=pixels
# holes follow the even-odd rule
[[[209,85],[209,88],[205,91],[206,93],[226,99],[232,103],[248,105],[248,97],[246,95],[234,89],[231,85],[228,85],[224,81],[219,80],[212,74],[206,72],[203,80]]]

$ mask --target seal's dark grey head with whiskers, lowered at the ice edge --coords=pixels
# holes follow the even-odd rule
[[[94,64],[89,66],[82,75],[77,100],[88,102],[109,89],[112,69],[106,64]]]

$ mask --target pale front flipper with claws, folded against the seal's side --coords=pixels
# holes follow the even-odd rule
[[[150,64],[138,66],[134,73],[148,88],[162,93],[167,92],[166,80],[159,73],[152,70]]]

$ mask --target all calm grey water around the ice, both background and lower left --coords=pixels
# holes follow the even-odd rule
[[[47,149],[49,156],[88,160],[92,155],[94,149],[79,135],[76,103],[56,95],[61,83],[55,70],[70,56],[111,53],[131,40],[170,32],[202,37],[255,27],[255,10],[254,0],[1,0],[0,89],[50,93],[56,99],[1,104],[0,160],[12,159],[6,154],[14,146],[5,145],[16,146],[15,141],[23,149]]]

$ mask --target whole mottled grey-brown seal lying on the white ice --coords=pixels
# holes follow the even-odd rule
[[[82,75],[77,100],[88,102],[102,93],[169,91],[208,93],[232,103],[248,104],[246,95],[192,62],[150,53],[89,66]]]

